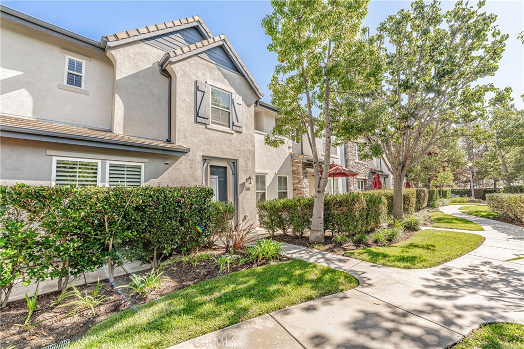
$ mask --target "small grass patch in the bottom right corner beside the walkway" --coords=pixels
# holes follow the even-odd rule
[[[453,349],[510,349],[524,348],[524,325],[517,323],[490,323],[481,325]]]

